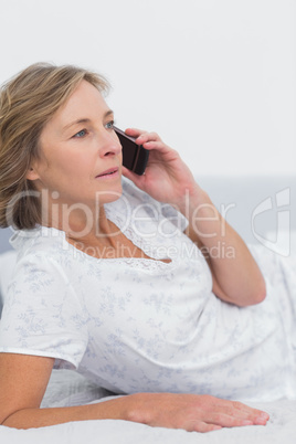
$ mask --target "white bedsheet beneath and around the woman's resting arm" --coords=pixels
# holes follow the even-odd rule
[[[82,377],[67,370],[56,370],[51,378],[43,406],[76,405],[101,402],[102,392]],[[267,411],[271,420],[266,426],[223,429],[211,433],[189,433],[182,430],[150,427],[127,421],[101,420],[54,425],[43,429],[14,430],[0,426],[1,444],[295,444],[296,401],[254,403]]]

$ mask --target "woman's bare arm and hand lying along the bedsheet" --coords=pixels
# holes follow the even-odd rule
[[[40,409],[54,360],[0,353],[0,424],[42,427],[71,421],[117,419],[151,426],[209,432],[221,427],[261,424],[268,414],[214,397],[137,393],[71,408]]]

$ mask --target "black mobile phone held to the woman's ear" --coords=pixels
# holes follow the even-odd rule
[[[149,151],[135,142],[135,138],[127,136],[125,131],[113,127],[123,147],[123,165],[136,175],[144,175],[148,162]]]

